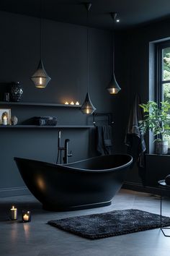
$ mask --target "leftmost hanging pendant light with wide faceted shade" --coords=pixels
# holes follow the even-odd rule
[[[31,80],[35,83],[36,88],[45,88],[50,82],[51,78],[45,72],[42,63],[42,0],[40,0],[40,62],[37,71],[32,75]]]

